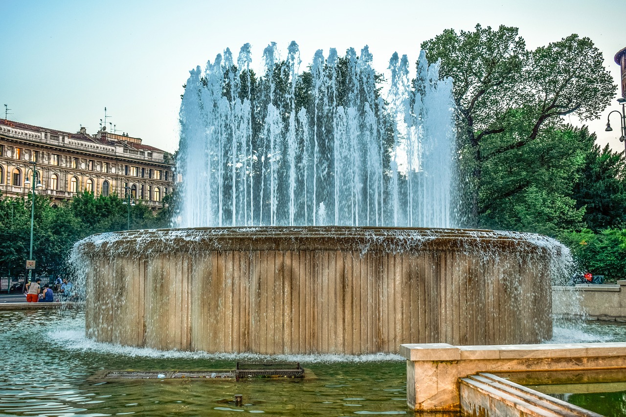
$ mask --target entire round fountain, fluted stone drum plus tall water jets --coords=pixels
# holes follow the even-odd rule
[[[552,336],[567,253],[540,235],[453,229],[451,80],[422,53],[317,51],[300,72],[250,45],[191,71],[180,112],[182,229],[89,237],[96,341],[262,354],[398,352],[406,342]],[[428,228],[428,229],[427,229]]]

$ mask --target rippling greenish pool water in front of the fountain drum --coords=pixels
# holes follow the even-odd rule
[[[280,416],[413,414],[406,365],[397,355],[275,356],[312,378],[232,380],[93,379],[105,369],[234,369],[246,354],[209,355],[100,344],[81,312],[0,311],[0,416]],[[243,405],[235,406],[235,394]]]

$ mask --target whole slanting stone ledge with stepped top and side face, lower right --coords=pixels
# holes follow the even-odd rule
[[[461,378],[461,409],[486,417],[602,417],[493,374]]]

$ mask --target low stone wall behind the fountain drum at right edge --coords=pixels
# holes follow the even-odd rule
[[[552,287],[552,314],[626,321],[626,280],[617,284]]]

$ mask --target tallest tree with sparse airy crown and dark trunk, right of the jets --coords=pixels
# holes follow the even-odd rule
[[[617,88],[600,51],[590,39],[576,34],[527,51],[517,28],[493,30],[479,24],[475,31],[446,29],[421,46],[429,62],[441,60],[441,78],[454,80],[458,131],[464,140],[461,153],[473,160],[462,165],[470,170],[466,174],[470,225],[485,218],[480,187],[489,159],[509,152],[516,155],[515,150],[540,140],[543,130],[549,135],[558,128],[562,116],[597,118]],[[500,134],[508,139],[496,140],[484,153],[481,145],[488,136]]]

